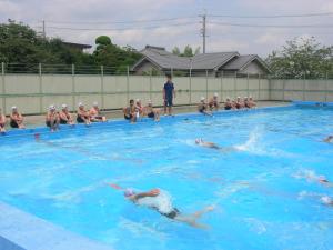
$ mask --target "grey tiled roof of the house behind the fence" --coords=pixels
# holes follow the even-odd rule
[[[150,61],[160,69],[178,70],[241,70],[253,60],[258,60],[268,71],[265,63],[255,54],[240,56],[239,52],[201,53],[192,58],[179,57],[168,52],[164,48],[147,46],[141,51],[144,56],[132,70],[135,70],[144,61]]]

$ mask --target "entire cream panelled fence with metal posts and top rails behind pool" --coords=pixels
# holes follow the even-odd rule
[[[31,72],[10,72],[2,63],[0,107],[7,113],[12,106],[17,106],[23,113],[43,113],[50,104],[60,107],[62,103],[69,104],[71,110],[77,109],[78,102],[91,106],[94,101],[105,110],[120,109],[127,106],[129,99],[141,99],[143,102],[152,100],[155,106],[162,104],[165,72],[137,76],[129,68],[118,73],[104,67],[100,67],[99,71],[95,68],[84,71],[87,69],[78,66],[61,71],[61,67],[48,64],[29,69]],[[80,70],[84,73],[78,73]],[[191,72],[190,76],[172,73],[178,106],[196,104],[201,97],[210,98],[215,92],[220,101],[239,96],[252,96],[255,100],[333,101],[333,80],[330,79],[283,80],[236,73],[216,77],[208,71],[196,74]]]

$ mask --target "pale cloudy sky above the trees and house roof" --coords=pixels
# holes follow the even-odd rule
[[[0,22],[12,19],[40,32],[44,20],[47,37],[93,46],[105,34],[115,44],[138,50],[145,44],[170,51],[175,46],[202,48],[203,13],[206,52],[266,57],[286,40],[312,36],[333,44],[332,0],[0,0]],[[312,13],[331,14],[281,17]]]

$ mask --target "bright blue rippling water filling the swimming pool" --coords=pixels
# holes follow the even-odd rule
[[[0,139],[1,200],[117,250],[332,249],[333,109],[278,108]],[[195,146],[203,138],[235,147]],[[127,201],[160,188],[191,228]]]

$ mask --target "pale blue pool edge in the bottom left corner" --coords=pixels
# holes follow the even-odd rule
[[[3,202],[0,236],[1,250],[112,250]]]

